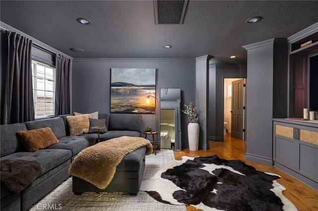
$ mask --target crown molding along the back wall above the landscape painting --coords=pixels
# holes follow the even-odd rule
[[[74,58],[73,62],[194,61],[194,58]]]

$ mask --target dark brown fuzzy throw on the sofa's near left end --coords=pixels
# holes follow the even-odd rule
[[[37,161],[23,159],[3,159],[0,168],[1,184],[11,195],[20,193],[44,171]]]

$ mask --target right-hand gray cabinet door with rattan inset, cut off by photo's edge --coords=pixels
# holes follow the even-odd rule
[[[298,126],[297,172],[318,182],[318,128]]]

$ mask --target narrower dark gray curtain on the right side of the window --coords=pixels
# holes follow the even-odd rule
[[[70,74],[72,61],[64,55],[56,55],[55,116],[70,113]]]

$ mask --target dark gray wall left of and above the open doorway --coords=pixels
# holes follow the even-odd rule
[[[209,66],[209,140],[223,141],[224,78],[246,78],[246,65],[211,64]]]

